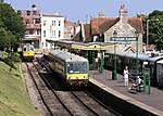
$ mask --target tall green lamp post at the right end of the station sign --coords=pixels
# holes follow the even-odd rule
[[[136,30],[135,31],[135,35],[136,35],[136,74],[138,75],[139,74],[139,67],[138,67],[138,38],[139,38],[139,31]]]

